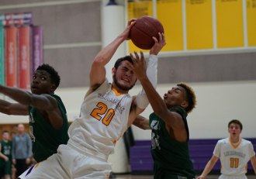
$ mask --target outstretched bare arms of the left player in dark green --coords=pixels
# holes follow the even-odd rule
[[[0,92],[7,95],[18,103],[0,101],[0,112],[7,115],[29,115],[28,106],[37,108],[44,119],[50,123],[54,129],[60,129],[63,124],[61,110],[55,98],[48,94],[35,95],[29,91],[19,88],[5,87],[0,85]]]

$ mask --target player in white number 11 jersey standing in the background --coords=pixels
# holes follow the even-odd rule
[[[247,163],[251,160],[251,165],[256,174],[256,157],[254,147],[251,142],[240,138],[243,125],[237,120],[228,123],[230,137],[220,139],[213,151],[213,157],[206,164],[202,174],[197,179],[204,179],[213,169],[217,160],[220,158],[220,177],[219,179],[246,179]]]

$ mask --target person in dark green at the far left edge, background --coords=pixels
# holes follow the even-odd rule
[[[2,132],[0,143],[0,177],[10,179],[12,174],[12,141],[7,130]]]

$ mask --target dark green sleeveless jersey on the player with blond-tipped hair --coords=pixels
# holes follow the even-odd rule
[[[182,115],[188,140],[180,143],[171,139],[165,128],[165,122],[155,113],[150,114],[151,154],[154,160],[154,179],[174,179],[178,176],[195,178],[192,161],[189,157],[189,127],[186,120],[187,112],[180,106],[170,108],[171,112]]]

